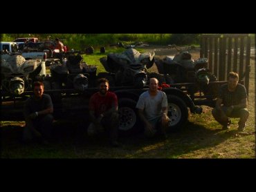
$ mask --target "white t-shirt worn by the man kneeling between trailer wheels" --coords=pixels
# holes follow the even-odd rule
[[[152,97],[147,90],[140,95],[136,108],[144,110],[147,120],[152,120],[163,115],[162,108],[167,106],[167,96],[163,91],[158,90],[157,94]]]

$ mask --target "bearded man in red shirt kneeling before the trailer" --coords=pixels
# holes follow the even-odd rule
[[[111,145],[118,146],[118,97],[109,91],[107,79],[99,79],[98,85],[99,91],[94,93],[89,101],[89,115],[92,123],[87,133],[91,136],[109,131]]]

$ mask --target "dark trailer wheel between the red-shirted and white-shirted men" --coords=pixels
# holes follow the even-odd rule
[[[118,101],[118,114],[120,135],[138,133],[139,121],[136,115],[136,102],[133,99],[120,99]]]

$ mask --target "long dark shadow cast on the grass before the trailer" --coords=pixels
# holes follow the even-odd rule
[[[192,122],[179,133],[169,133],[148,140],[143,134],[120,137],[119,148],[109,145],[108,135],[88,137],[84,122],[55,122],[53,141],[42,144],[21,144],[22,126],[1,127],[1,156],[3,158],[177,158],[181,155],[221,144],[237,131],[208,129]],[[242,135],[241,136],[245,136]]]

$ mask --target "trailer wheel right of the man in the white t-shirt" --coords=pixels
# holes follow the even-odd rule
[[[168,97],[168,117],[171,119],[169,130],[177,132],[188,122],[188,107],[185,102],[175,95]]]

